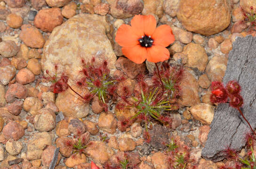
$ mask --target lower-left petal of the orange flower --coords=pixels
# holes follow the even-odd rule
[[[141,47],[140,45],[136,45],[134,47],[123,47],[123,54],[131,61],[141,64],[146,60],[147,50],[145,47]]]

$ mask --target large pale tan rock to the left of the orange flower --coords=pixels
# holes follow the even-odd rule
[[[57,74],[62,75],[65,72],[70,77],[69,81],[74,81],[80,73],[81,59],[90,61],[93,56],[97,59],[104,55],[112,74],[116,69],[116,56],[106,36],[109,31],[110,26],[105,16],[80,14],[72,17],[56,27],[49,36],[41,59],[43,72],[47,69],[49,72],[55,72],[57,64]]]

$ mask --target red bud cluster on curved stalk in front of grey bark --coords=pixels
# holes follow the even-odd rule
[[[240,115],[244,118],[244,120],[248,123],[251,131],[256,135],[254,130],[251,127],[251,124],[245,118],[244,114],[241,111],[241,107],[243,106],[243,98],[240,95],[241,87],[237,81],[229,81],[226,84],[226,87],[221,82],[212,82],[211,85],[212,94],[210,96],[210,100],[212,103],[226,103],[228,100],[229,105],[233,108],[236,108]]]

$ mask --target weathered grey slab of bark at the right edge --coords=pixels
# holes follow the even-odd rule
[[[252,128],[255,129],[256,38],[252,36],[237,38],[233,43],[223,83],[226,84],[230,80],[237,80],[241,85],[241,96],[244,99],[241,110]],[[241,150],[246,143],[246,134],[251,133],[239,111],[230,107],[228,103],[218,105],[210,127],[202,156],[212,161],[224,159],[223,150],[227,147]]]

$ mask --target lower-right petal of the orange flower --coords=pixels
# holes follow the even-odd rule
[[[159,62],[166,61],[170,57],[170,53],[167,48],[161,45],[152,45],[147,48],[147,61]]]

